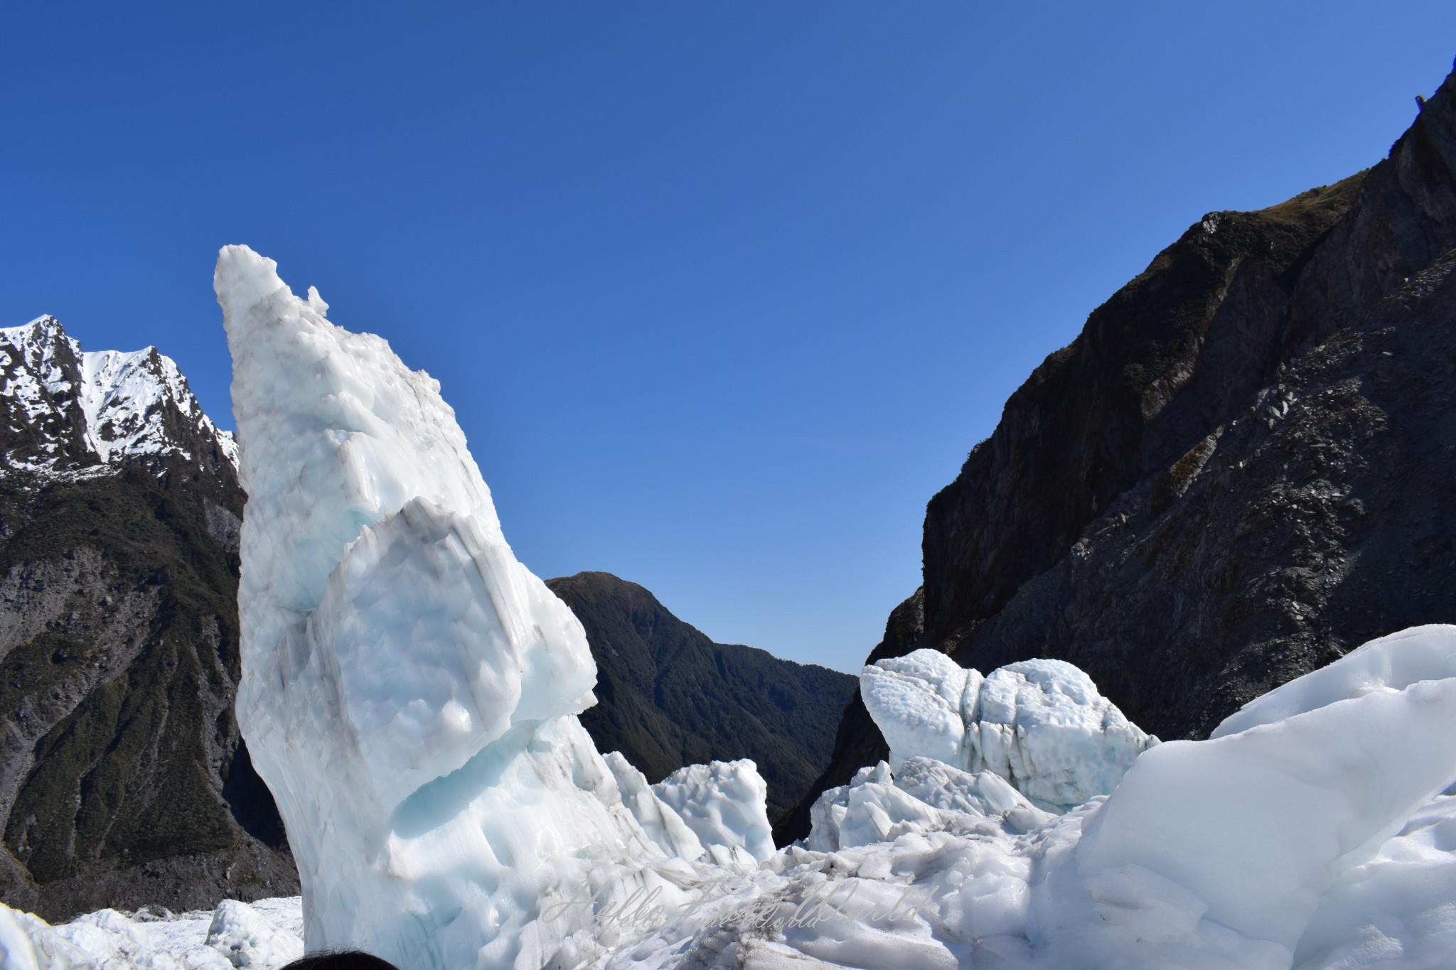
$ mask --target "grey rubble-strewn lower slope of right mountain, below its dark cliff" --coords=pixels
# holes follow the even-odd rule
[[[1139,723],[1204,737],[1366,640],[1456,618],[1453,269],[1456,250],[1290,358],[957,659],[1061,657]]]

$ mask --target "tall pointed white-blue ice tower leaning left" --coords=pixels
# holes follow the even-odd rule
[[[513,556],[438,382],[248,247],[214,284],[249,496],[237,717],[306,942],[540,967],[591,918],[556,902],[662,881],[575,717],[581,624]]]

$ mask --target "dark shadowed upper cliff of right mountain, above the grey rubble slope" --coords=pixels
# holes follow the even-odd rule
[[[1204,217],[1037,368],[926,509],[926,640],[964,640],[1274,377],[1309,329],[1286,313],[1297,269],[1361,180]]]

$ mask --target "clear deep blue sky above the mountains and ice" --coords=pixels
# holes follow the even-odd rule
[[[226,426],[224,243],[440,378],[517,554],[858,669],[1006,396],[1382,159],[1456,4],[6,4],[0,323]]]

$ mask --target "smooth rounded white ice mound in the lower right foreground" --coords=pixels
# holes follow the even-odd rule
[[[1425,681],[1149,750],[1083,827],[1076,871],[1099,919],[1064,938],[1127,966],[1290,966],[1321,896],[1456,777],[1453,724],[1456,679]],[[1178,905],[1163,939],[1144,928],[1159,899]]]

